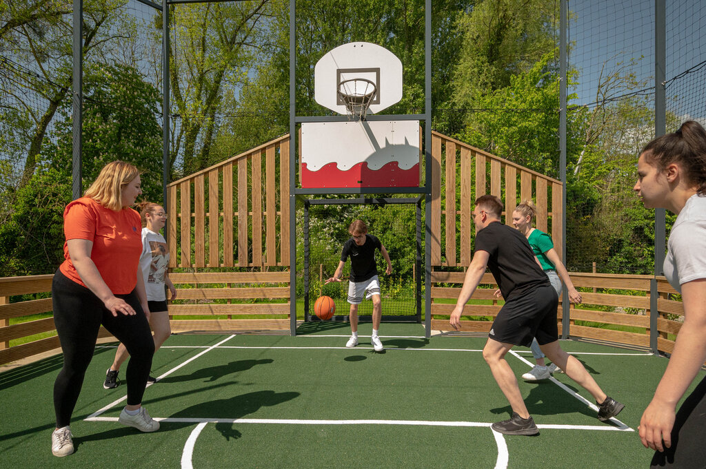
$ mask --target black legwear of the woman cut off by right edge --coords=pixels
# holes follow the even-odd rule
[[[650,468],[706,468],[706,378],[684,400],[671,430],[671,447],[654,451]]]

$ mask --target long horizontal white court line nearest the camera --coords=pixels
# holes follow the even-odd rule
[[[168,423],[246,423],[261,425],[400,425],[413,427],[490,427],[489,422],[463,422],[452,420],[311,420],[282,418],[189,418],[189,417],[153,417],[154,420]],[[117,422],[117,417],[89,417],[88,422]],[[537,425],[547,430],[597,430],[599,432],[634,432],[630,427],[611,427],[610,425]]]

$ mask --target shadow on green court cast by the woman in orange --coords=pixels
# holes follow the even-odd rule
[[[256,391],[228,399],[208,401],[179,410],[172,418],[214,418],[222,420],[237,420],[257,412],[262,407],[277,406],[299,397],[298,392]],[[238,439],[241,432],[233,428],[235,422],[217,422],[218,430],[226,440]]]

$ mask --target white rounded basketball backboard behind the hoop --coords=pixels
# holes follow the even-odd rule
[[[342,81],[352,78],[365,78],[375,83],[377,91],[368,110],[371,114],[402,99],[402,61],[377,44],[349,42],[329,51],[316,63],[316,102],[339,114],[346,114],[346,106],[337,90]]]

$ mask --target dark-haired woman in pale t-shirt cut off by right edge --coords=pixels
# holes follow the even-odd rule
[[[652,140],[638,159],[633,188],[647,208],[677,217],[669,234],[664,275],[681,293],[684,322],[652,402],[640,420],[640,439],[655,449],[652,468],[696,468],[706,461],[706,378],[679,411],[676,404],[706,361],[706,130],[687,121]]]

